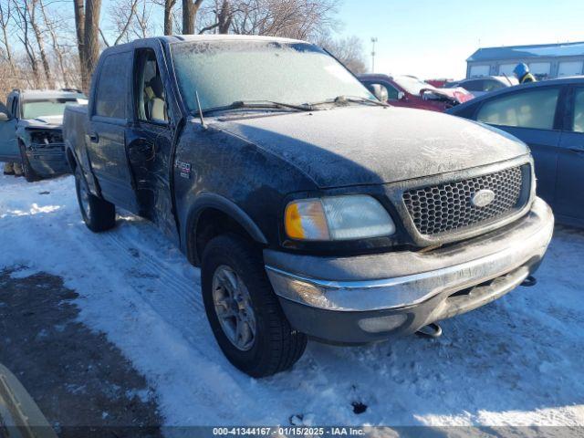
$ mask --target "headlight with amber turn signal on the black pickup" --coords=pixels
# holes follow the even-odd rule
[[[297,240],[352,240],[395,233],[390,214],[368,195],[302,199],[287,204],[285,229]]]

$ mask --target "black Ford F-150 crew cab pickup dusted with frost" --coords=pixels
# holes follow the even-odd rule
[[[85,223],[108,230],[120,207],[175,241],[252,376],[292,366],[308,337],[388,339],[501,297],[553,231],[524,143],[383,104],[302,41],[110,47],[64,137]]]

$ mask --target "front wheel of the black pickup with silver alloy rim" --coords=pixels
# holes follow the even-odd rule
[[[238,235],[215,237],[204,249],[201,276],[209,324],[236,368],[266,377],[300,359],[307,337],[290,327],[254,245]]]

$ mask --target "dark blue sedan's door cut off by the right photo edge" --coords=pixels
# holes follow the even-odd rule
[[[558,150],[555,213],[567,224],[584,224],[584,86],[568,92]]]

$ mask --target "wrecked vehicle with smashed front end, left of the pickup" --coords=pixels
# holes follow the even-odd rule
[[[28,182],[67,173],[63,111],[83,100],[78,89],[12,90],[0,103],[0,161],[21,163]]]

